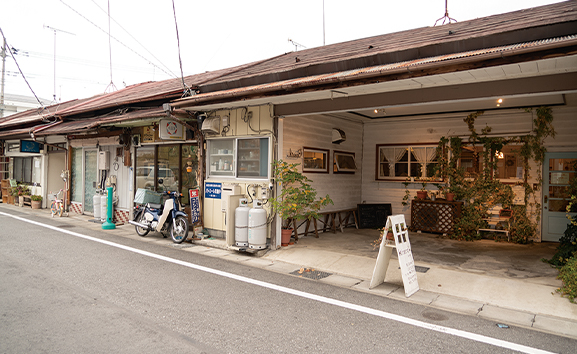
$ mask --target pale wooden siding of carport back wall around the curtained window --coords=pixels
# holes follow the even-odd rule
[[[555,139],[548,139],[548,151],[577,151],[577,95],[567,95],[567,105],[553,107]],[[367,122],[363,136],[363,174],[362,201],[367,203],[391,203],[393,214],[404,214],[410,224],[410,206],[403,206],[405,187],[401,181],[376,181],[376,145],[377,144],[437,144],[442,136],[469,136],[467,125],[463,122],[467,114],[446,114],[422,117],[391,118],[378,122]],[[477,132],[488,125],[492,134],[510,134],[529,132],[532,129],[531,113],[523,109],[487,111],[476,120]],[[537,182],[537,171],[531,165],[530,183]],[[431,189],[434,186],[429,185]],[[411,198],[421,188],[420,183],[409,186]],[[539,198],[540,196],[538,196]]]

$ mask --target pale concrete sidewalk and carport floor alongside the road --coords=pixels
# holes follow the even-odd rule
[[[32,210],[0,204],[3,208],[50,218],[47,209]],[[248,266],[315,279],[373,295],[427,305],[451,312],[478,316],[507,325],[577,339],[577,304],[555,293],[561,282],[557,270],[540,261],[550,258],[556,244],[516,245],[482,240],[453,241],[438,235],[410,233],[420,290],[405,297],[401,273],[394,255],[385,282],[369,290],[378,250],[370,242],[376,230],[345,229],[344,233],[322,233],[320,238],[299,238],[296,245],[269,251],[262,257],[226,250],[223,239],[172,243],[158,233],[139,237],[132,225],[102,230],[84,215],[55,218],[143,242],[161,243],[186,252],[225,258]],[[394,252],[393,252],[394,254]],[[299,274],[299,270],[304,269]]]

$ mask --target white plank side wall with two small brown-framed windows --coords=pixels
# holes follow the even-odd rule
[[[342,129],[346,134],[346,141],[341,144],[332,143],[332,129]],[[289,163],[300,163],[301,158],[287,158],[289,149],[295,152],[303,146],[330,150],[329,173],[307,173],[313,180],[319,196],[329,194],[334,205],[327,206],[326,210],[354,208],[361,202],[362,177],[362,124],[330,115],[312,115],[306,117],[284,118],[283,150],[279,158]],[[354,174],[333,173],[334,150],[355,153],[358,170]]]

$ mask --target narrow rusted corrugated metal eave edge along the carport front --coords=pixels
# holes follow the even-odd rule
[[[177,100],[172,104],[172,106],[176,108],[183,108],[187,106],[193,106],[195,103],[205,102],[209,100],[217,100],[221,98],[250,96],[254,94],[263,94],[266,92],[272,92],[278,90],[294,90],[300,87],[310,87],[330,82],[345,82],[355,80],[361,77],[374,77],[374,76],[380,77],[392,73],[397,73],[399,72],[399,70],[400,71],[410,71],[411,69],[418,70],[426,65],[435,65],[435,64],[445,65],[446,62],[448,61],[455,61],[474,57],[486,57],[488,55],[504,56],[507,55],[508,53],[513,52],[517,53],[522,50],[526,51],[541,50],[545,46],[555,46],[565,44],[577,45],[577,35],[565,36],[562,38],[551,38],[527,43],[518,43],[513,45],[467,51],[462,53],[439,55],[430,58],[422,58],[386,65],[376,65],[367,68],[359,68],[355,70],[347,70],[324,75],[314,75],[299,79],[284,80],[269,84],[242,87],[238,89],[208,92]]]

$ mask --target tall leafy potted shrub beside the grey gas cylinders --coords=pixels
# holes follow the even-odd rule
[[[273,162],[273,176],[280,186],[280,193],[276,198],[271,199],[272,209],[283,220],[283,236],[281,244],[288,245],[292,234],[290,223],[294,225],[295,235],[296,220],[298,219],[318,219],[320,217],[319,211],[327,206],[333,204],[327,194],[325,197],[317,200],[317,192],[310,185],[312,182],[309,178],[298,171],[298,163],[287,163],[283,160],[275,160]]]

